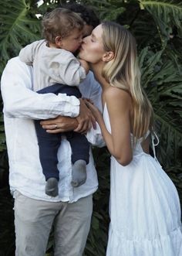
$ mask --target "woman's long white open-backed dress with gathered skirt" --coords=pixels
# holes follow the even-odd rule
[[[103,118],[111,132],[106,104]],[[106,256],[182,256],[177,189],[157,159],[143,152],[140,142],[130,165],[121,166],[111,157]]]

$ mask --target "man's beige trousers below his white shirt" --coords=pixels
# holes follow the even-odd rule
[[[15,191],[16,256],[45,256],[54,228],[55,256],[81,256],[89,234],[93,196],[76,203],[33,200]]]

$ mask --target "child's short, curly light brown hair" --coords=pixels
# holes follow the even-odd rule
[[[83,19],[69,9],[57,8],[48,12],[42,19],[42,36],[49,42],[55,43],[56,36],[65,38],[72,29],[83,29]]]

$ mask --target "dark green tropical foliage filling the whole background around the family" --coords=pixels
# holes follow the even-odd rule
[[[44,0],[37,6],[35,0],[0,0],[0,73],[7,60],[19,53],[26,43],[40,38],[40,20],[35,14],[44,14],[66,1]],[[74,2],[74,1],[70,1]],[[142,85],[153,104],[160,145],[157,158],[177,186],[182,199],[182,3],[180,0],[79,0],[96,11],[101,20],[113,20],[128,27],[136,37]],[[0,117],[0,215],[5,232],[0,235],[8,251],[14,246],[12,199],[7,196],[7,155],[5,135]],[[94,194],[93,221],[86,244],[85,256],[105,255],[109,225],[108,202],[110,194],[110,155],[106,148],[94,148],[99,189]],[[1,183],[2,180],[2,183]],[[6,180],[6,182],[5,182]],[[10,203],[9,203],[10,202]],[[4,215],[11,219],[8,225]],[[12,228],[12,230],[11,230]],[[1,230],[1,229],[0,229]],[[5,238],[3,238],[5,237]],[[8,252],[0,251],[0,254]],[[52,240],[49,243],[52,254]],[[2,254],[2,255],[4,255]],[[49,254],[49,255],[50,255]],[[9,254],[10,255],[10,254]]]

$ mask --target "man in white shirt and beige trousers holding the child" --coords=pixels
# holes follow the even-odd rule
[[[32,67],[18,57],[9,60],[2,74],[2,98],[9,183],[15,198],[15,254],[44,256],[53,226],[55,256],[81,256],[93,211],[92,194],[98,186],[92,152],[90,150],[86,183],[73,188],[70,184],[71,149],[66,138],[62,138],[61,153],[58,152],[59,196],[47,196],[33,120],[50,119],[42,124],[53,132],[72,129],[85,132],[91,127],[92,115],[82,100],[64,94],[37,94],[32,87]],[[90,98],[98,106],[101,90],[93,73],[89,73],[79,89],[83,97]],[[92,131],[97,133],[97,130]],[[90,134],[89,138],[92,132]]]

